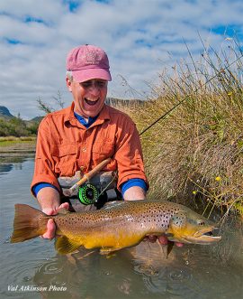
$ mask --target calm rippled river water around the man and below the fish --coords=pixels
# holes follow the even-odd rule
[[[0,298],[243,298],[242,226],[228,220],[212,246],[166,248],[142,242],[112,257],[81,249],[60,256],[54,241],[11,244],[14,204],[38,208],[31,197],[33,159],[0,164]]]

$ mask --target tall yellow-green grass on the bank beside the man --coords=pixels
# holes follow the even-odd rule
[[[243,214],[242,52],[205,51],[173,69],[153,99],[123,108],[141,132],[176,107],[141,135],[149,194]]]

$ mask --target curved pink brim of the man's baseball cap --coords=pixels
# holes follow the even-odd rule
[[[76,82],[85,82],[89,79],[112,80],[110,71],[104,69],[73,70],[72,75]]]

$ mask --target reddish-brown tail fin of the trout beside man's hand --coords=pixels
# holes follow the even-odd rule
[[[15,204],[14,232],[11,243],[36,238],[46,231],[49,218],[27,204]]]

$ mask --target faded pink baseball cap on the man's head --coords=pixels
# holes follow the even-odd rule
[[[108,57],[101,48],[85,44],[78,46],[67,54],[67,70],[72,71],[76,82],[89,79],[111,81]]]

